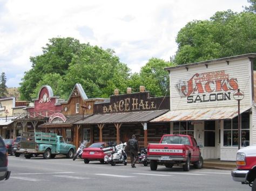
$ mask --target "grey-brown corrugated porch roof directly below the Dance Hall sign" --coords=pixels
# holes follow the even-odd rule
[[[138,123],[150,120],[166,113],[169,110],[124,112],[117,114],[100,114],[79,120],[75,124],[102,124],[102,123]]]

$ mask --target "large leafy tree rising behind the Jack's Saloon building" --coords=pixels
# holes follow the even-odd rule
[[[210,20],[194,20],[178,32],[174,62],[184,63],[256,52],[256,14],[217,12]]]

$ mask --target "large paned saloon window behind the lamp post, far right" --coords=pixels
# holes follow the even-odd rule
[[[241,114],[240,146],[250,145],[250,114]],[[223,146],[238,146],[238,117],[224,121]]]

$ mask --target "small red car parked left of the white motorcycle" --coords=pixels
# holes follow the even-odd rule
[[[90,160],[99,160],[101,164],[104,164],[104,156],[102,148],[106,143],[93,143],[91,146],[84,148],[82,153],[82,159],[84,163],[88,164]]]

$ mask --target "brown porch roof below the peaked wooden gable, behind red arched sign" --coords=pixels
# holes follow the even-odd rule
[[[90,115],[85,115],[84,118],[89,117],[89,116]],[[65,123],[63,123],[63,122],[54,123],[54,121],[52,123],[46,122],[42,125],[39,125],[39,127],[40,128],[50,128],[50,127],[55,127],[55,126],[72,126],[75,122],[77,122],[78,120],[83,118],[82,115],[70,115],[70,116],[65,116],[65,117],[66,117]]]

